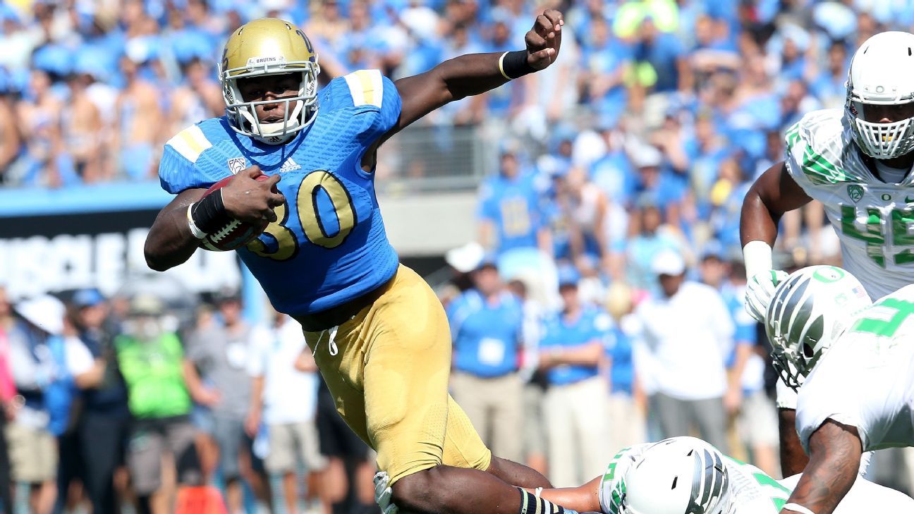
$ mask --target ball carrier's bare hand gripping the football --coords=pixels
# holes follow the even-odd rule
[[[222,188],[222,204],[232,218],[249,223],[276,220],[273,209],[285,202],[285,197],[276,188],[280,176],[257,180],[259,175],[260,166],[250,166],[239,171]]]

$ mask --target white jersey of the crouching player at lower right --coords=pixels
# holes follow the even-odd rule
[[[806,378],[797,432],[809,438],[826,419],[855,426],[863,449],[914,446],[914,284],[857,316]]]

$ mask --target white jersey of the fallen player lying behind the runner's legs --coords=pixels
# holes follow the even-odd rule
[[[635,444],[612,457],[610,466],[600,480],[600,509],[604,514],[622,514],[622,497],[625,494],[625,474],[641,460],[644,451],[652,444]],[[730,479],[732,505],[724,512],[734,514],[778,514],[793,487],[802,475],[775,480],[756,466],[724,457]],[[658,484],[657,487],[661,487]],[[667,486],[668,487],[668,486]],[[834,514],[859,514],[873,508],[884,512],[914,512],[914,499],[887,487],[878,486],[863,477],[857,477]]]

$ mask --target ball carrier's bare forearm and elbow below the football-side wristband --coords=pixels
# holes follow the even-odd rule
[[[197,250],[199,240],[187,224],[187,206],[194,203],[206,189],[187,189],[159,211],[153,228],[146,235],[143,254],[146,264],[157,272],[185,262]]]

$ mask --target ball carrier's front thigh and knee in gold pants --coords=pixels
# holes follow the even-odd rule
[[[441,464],[451,333],[428,284],[400,267],[367,314],[363,388],[370,443],[391,481]]]

